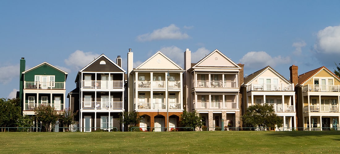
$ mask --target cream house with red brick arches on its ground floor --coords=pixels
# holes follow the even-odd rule
[[[183,72],[182,67],[160,51],[133,68],[133,52],[128,52],[125,110],[139,112],[142,130],[167,131],[179,127],[183,113]]]

